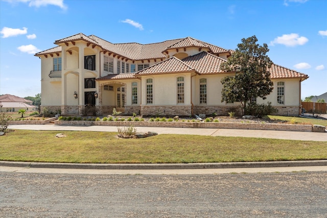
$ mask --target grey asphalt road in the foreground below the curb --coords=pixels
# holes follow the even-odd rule
[[[0,172],[0,217],[325,217],[327,172]]]

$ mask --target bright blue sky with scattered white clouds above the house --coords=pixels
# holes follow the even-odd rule
[[[309,75],[301,98],[327,92],[327,1],[0,0],[0,94],[41,92],[34,54],[77,33],[112,43],[193,37],[224,49],[255,35],[278,65]]]

